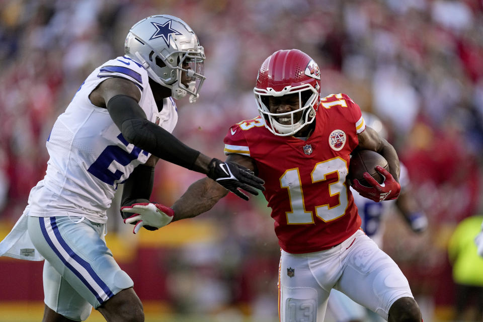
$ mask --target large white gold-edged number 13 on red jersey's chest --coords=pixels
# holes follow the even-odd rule
[[[345,181],[348,173],[347,162],[341,157],[319,162],[313,168],[311,183],[322,183],[324,188],[311,187],[310,189],[317,189],[316,193],[327,194],[323,198],[329,200],[329,203],[315,206],[315,215],[321,220],[331,221],[345,214],[348,204]],[[328,178],[329,176],[330,178]],[[313,223],[312,211],[305,208],[299,168],[285,171],[283,176],[280,177],[280,186],[287,189],[290,200],[291,211],[286,212],[287,223]]]

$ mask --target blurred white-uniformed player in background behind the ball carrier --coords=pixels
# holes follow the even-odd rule
[[[362,117],[366,126],[373,128],[381,137],[387,139],[387,130],[377,116],[362,112]],[[382,249],[384,235],[384,216],[390,212],[390,208],[394,205],[414,232],[421,233],[428,227],[426,214],[412,196],[408,171],[403,164],[400,164],[399,183],[401,191],[396,200],[374,202],[359,194],[353,194],[362,219],[361,228],[366,235],[376,242],[380,249]],[[357,304],[336,289],[333,289],[329,296],[328,310],[337,322],[383,321],[379,315]]]

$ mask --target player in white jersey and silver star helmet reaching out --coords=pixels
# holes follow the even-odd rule
[[[93,306],[108,321],[144,320],[132,279],[106,246],[106,210],[124,184],[122,205],[135,209],[125,222],[135,224],[134,232],[183,219],[159,216],[149,202],[158,158],[207,174],[243,199],[248,196],[238,189],[264,189],[253,172],[208,157],[171,134],[178,119],[173,98],[198,98],[204,59],[185,22],[145,18],[130,29],[125,55],[96,68],[58,117],[46,143],[46,175],[0,243],[0,255],[45,258],[43,321],[82,321]]]

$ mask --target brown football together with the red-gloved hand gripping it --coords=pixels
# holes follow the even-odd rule
[[[387,160],[371,150],[359,150],[351,157],[349,182],[363,197],[375,202],[396,199],[401,190],[389,173]]]

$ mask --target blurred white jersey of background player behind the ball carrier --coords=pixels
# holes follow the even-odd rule
[[[408,170],[403,164],[400,164],[400,168],[399,183],[401,190],[404,190],[409,187]],[[362,219],[362,230],[381,248],[382,236],[384,234],[383,216],[388,213],[389,208],[394,205],[395,200],[375,202],[362,197],[355,190],[352,190],[352,195],[354,196],[354,202]]]

